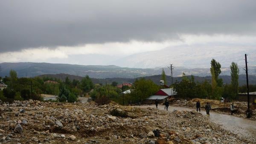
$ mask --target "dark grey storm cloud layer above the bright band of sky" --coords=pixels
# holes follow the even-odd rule
[[[0,52],[255,32],[255,0],[0,1]]]

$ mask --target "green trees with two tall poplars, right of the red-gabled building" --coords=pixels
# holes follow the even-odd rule
[[[224,84],[219,78],[221,74],[221,64],[215,59],[211,60],[211,81],[195,82],[193,75],[186,77],[183,73],[182,81],[175,82],[173,85],[180,98],[208,98],[219,100],[221,97],[235,100],[237,93],[244,92],[244,86],[239,87],[239,67],[237,63],[230,65],[231,84]],[[253,87],[253,86],[252,86]]]

